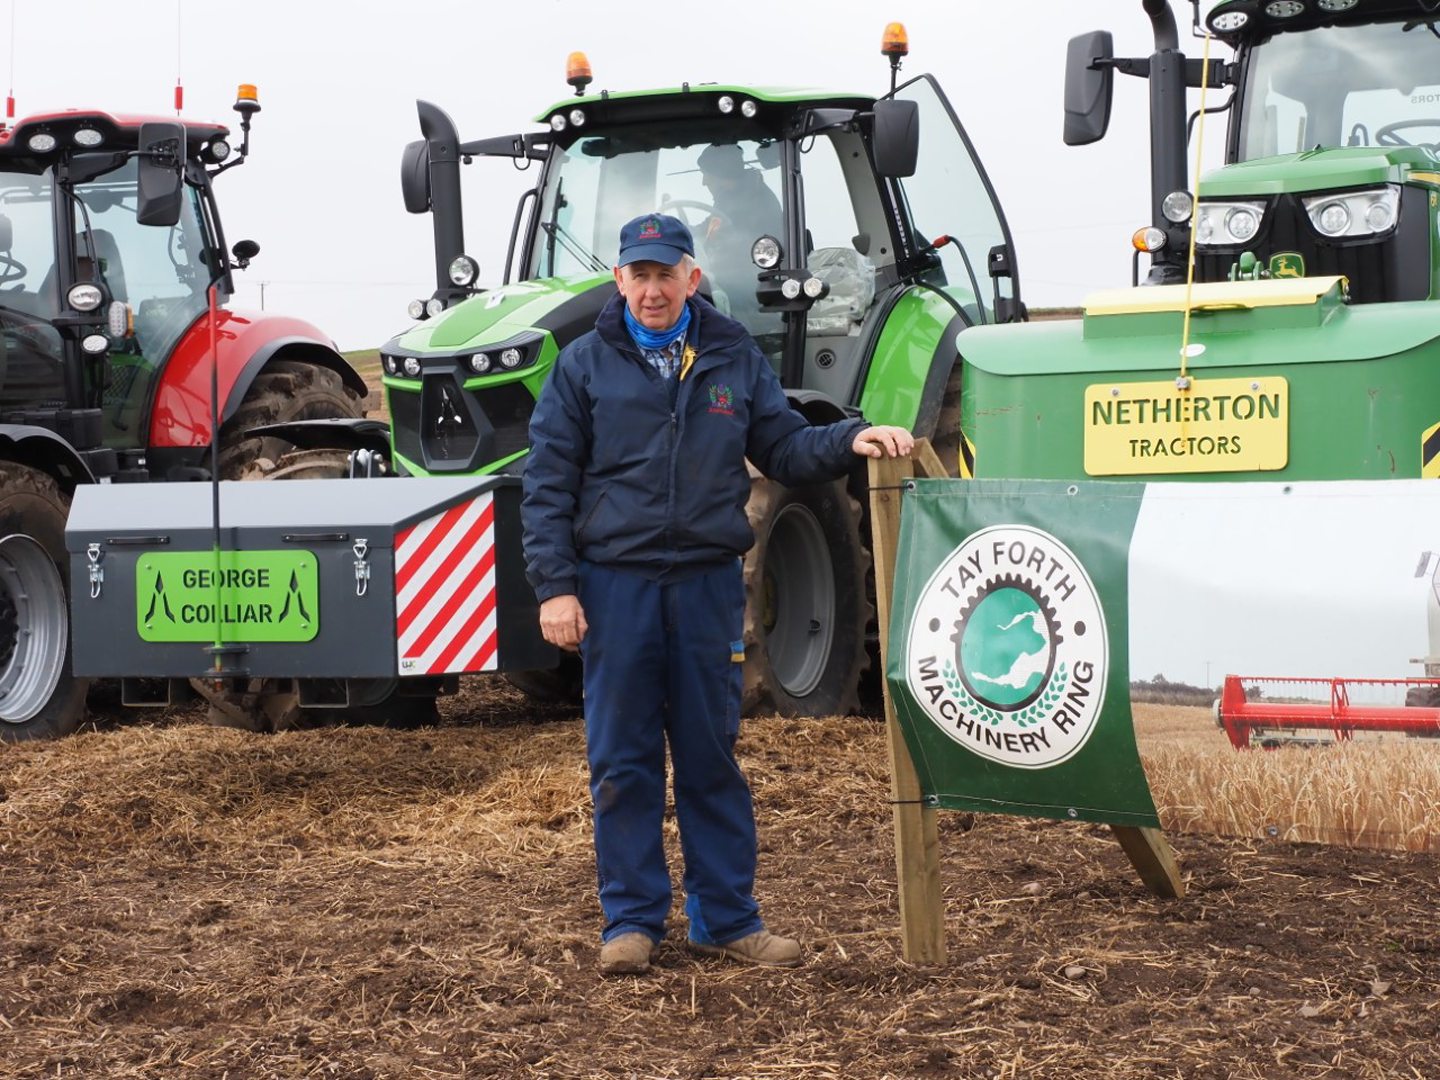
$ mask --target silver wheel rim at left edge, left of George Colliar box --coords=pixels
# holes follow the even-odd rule
[[[27,536],[0,540],[0,721],[24,723],[55,694],[65,670],[65,586]]]

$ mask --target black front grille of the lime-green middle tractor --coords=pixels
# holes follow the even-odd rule
[[[448,372],[426,373],[419,393],[390,387],[395,448],[428,472],[474,472],[528,445],[534,403],[523,383],[469,392]]]

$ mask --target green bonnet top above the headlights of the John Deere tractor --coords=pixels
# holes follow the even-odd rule
[[[1410,170],[1434,170],[1424,147],[1333,147],[1260,157],[1217,168],[1200,180],[1201,199],[1254,197],[1401,183]]]

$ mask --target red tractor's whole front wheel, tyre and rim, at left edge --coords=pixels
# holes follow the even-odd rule
[[[58,739],[85,719],[69,634],[69,498],[45,472],[0,462],[0,742]],[[37,547],[36,547],[37,546]]]

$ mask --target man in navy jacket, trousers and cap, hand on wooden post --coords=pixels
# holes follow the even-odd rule
[[[567,346],[530,420],[526,560],[546,641],[585,661],[585,734],[605,929],[600,972],[649,969],[670,913],[665,747],[685,861],[688,940],[704,955],[792,966],[752,894],[740,729],[746,459],[782,484],[909,454],[901,428],[811,428],[744,327],[696,295],[683,222],[621,229],[619,292]]]

